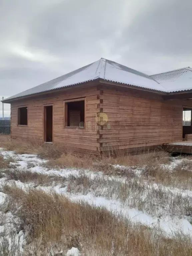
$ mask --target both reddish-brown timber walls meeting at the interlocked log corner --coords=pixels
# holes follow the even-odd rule
[[[78,98],[85,98],[85,128],[65,127],[64,100]],[[157,93],[104,84],[68,88],[11,103],[12,138],[43,142],[46,105],[53,105],[53,143],[99,154],[182,141],[183,106],[192,107],[192,101],[164,100]],[[17,123],[22,106],[28,107],[27,126]]]

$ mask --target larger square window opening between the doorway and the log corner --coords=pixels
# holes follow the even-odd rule
[[[67,104],[67,126],[84,127],[85,123],[85,101],[66,102]]]

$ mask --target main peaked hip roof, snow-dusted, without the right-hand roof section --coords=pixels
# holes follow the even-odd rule
[[[95,61],[85,67],[79,68],[51,81],[13,95],[4,101],[81,84],[99,78],[106,81],[113,81],[117,83],[163,91],[163,87],[154,81],[154,79],[150,76],[137,70],[120,65],[116,62],[101,58],[100,60]]]

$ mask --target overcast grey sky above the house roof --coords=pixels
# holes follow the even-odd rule
[[[0,97],[101,57],[147,74],[192,67],[191,13],[191,0],[0,0]]]

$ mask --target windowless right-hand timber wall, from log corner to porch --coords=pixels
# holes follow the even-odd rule
[[[160,94],[120,87],[102,90],[108,125],[100,131],[100,150],[182,141],[183,105],[192,105],[191,101],[163,100]]]

